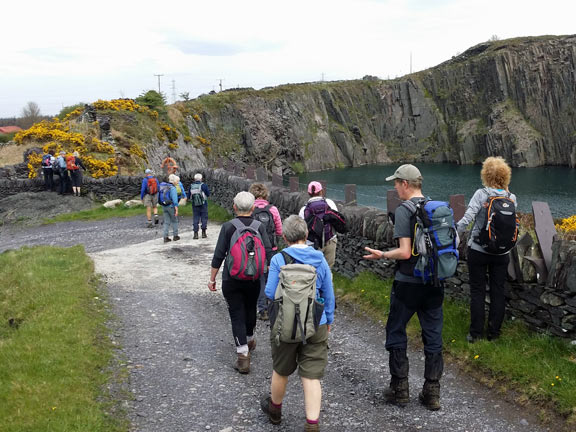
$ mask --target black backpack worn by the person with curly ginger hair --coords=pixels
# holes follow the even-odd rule
[[[486,191],[488,193],[488,191]],[[484,224],[474,239],[486,252],[504,254],[516,245],[520,222],[516,205],[508,196],[488,196],[483,204]]]

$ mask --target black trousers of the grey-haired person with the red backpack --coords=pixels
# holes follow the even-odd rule
[[[260,294],[260,281],[222,281],[222,294],[228,303],[232,335],[236,346],[246,345],[248,336],[256,327],[256,302]]]

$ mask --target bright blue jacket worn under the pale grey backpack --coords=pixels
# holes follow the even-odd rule
[[[324,254],[311,246],[293,245],[284,249],[288,255],[298,263],[310,264],[316,268],[316,293],[318,297],[324,298],[324,313],[320,324],[332,324],[334,321],[334,287],[332,286],[332,275],[330,267],[324,258]],[[274,299],[276,288],[280,280],[280,267],[286,262],[281,253],[274,255],[270,261],[268,270],[268,282],[266,282],[266,297]]]

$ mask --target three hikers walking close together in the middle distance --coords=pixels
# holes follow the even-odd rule
[[[146,169],[146,176],[142,179],[140,188],[140,199],[146,207],[146,217],[148,228],[157,225],[158,206],[162,206],[164,217],[164,243],[180,240],[178,235],[178,207],[185,205],[188,200],[192,204],[194,219],[194,240],[197,240],[199,228],[202,228],[202,238],[206,238],[208,225],[208,197],[210,189],[202,181],[202,174],[194,175],[194,181],[188,189],[180,181],[180,177],[171,170],[168,174],[167,182],[160,182],[151,169]],[[152,220],[154,216],[154,220]],[[172,238],[170,238],[172,229]]]

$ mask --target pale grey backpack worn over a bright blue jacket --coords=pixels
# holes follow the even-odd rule
[[[316,269],[296,263],[281,252],[285,265],[280,267],[280,280],[270,304],[271,331],[276,344],[306,344],[318,330],[324,304],[316,298]]]

